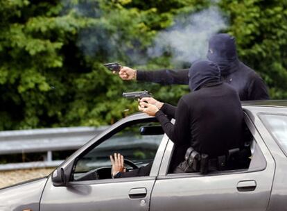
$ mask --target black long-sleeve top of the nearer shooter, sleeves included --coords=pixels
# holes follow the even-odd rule
[[[166,115],[174,117],[175,124]],[[193,146],[210,158],[241,146],[243,110],[236,90],[226,83],[182,96],[177,108],[165,103],[156,117],[177,146]]]

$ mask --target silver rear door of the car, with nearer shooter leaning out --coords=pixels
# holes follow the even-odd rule
[[[153,189],[150,210],[257,210],[268,207],[275,162],[254,124],[247,116],[254,137],[249,169],[167,174],[173,143],[168,142]],[[253,117],[255,124],[259,121]]]

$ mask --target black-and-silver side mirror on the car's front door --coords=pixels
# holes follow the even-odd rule
[[[73,167],[73,162],[67,164],[67,165],[62,165],[55,169],[52,174],[52,182],[53,185],[56,187],[59,186],[67,186],[69,183],[69,179],[71,176],[71,169]]]

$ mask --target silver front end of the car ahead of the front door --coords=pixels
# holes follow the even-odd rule
[[[39,210],[47,177],[0,189],[0,210]]]

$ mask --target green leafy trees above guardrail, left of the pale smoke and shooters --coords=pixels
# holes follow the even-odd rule
[[[189,2],[0,1],[0,130],[109,124],[134,111],[121,93],[136,85],[102,63],[133,65]]]

